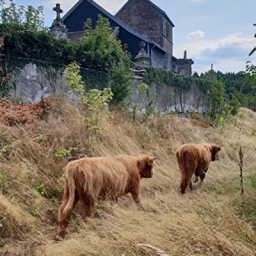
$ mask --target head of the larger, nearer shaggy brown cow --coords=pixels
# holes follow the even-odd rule
[[[141,155],[138,157],[137,167],[140,172],[140,178],[153,177],[153,167],[155,166],[155,159],[157,159],[157,157],[150,157],[149,155]]]

